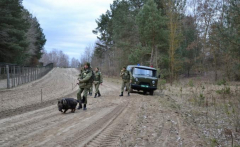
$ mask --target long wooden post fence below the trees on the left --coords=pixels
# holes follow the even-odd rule
[[[27,67],[0,63],[0,89],[10,89],[37,80],[46,75],[51,69],[53,69],[53,63],[42,67]]]

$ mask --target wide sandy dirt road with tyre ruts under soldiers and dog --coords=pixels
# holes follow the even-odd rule
[[[156,91],[119,97],[116,79],[104,79],[101,97],[88,96],[87,111],[60,113],[57,99],[76,99],[77,74],[55,68],[35,82],[0,91],[0,146],[206,146],[199,131],[168,107],[168,96]]]

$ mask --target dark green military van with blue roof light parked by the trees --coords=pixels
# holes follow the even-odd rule
[[[133,80],[131,83],[131,90],[142,90],[144,94],[149,92],[153,95],[154,91],[157,89],[158,78],[157,70],[152,67],[140,66],[140,65],[128,65],[127,70],[133,75]]]

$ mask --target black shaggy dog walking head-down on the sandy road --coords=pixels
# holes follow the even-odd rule
[[[63,112],[62,109],[64,109],[63,113],[66,113],[68,109],[71,109],[71,112],[74,113],[77,103],[77,100],[74,98],[63,98],[58,101],[58,110]]]

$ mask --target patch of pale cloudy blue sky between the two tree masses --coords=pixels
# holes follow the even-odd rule
[[[62,50],[79,59],[86,46],[94,44],[95,20],[113,0],[23,0],[23,6],[37,17],[47,38],[45,50]]]

